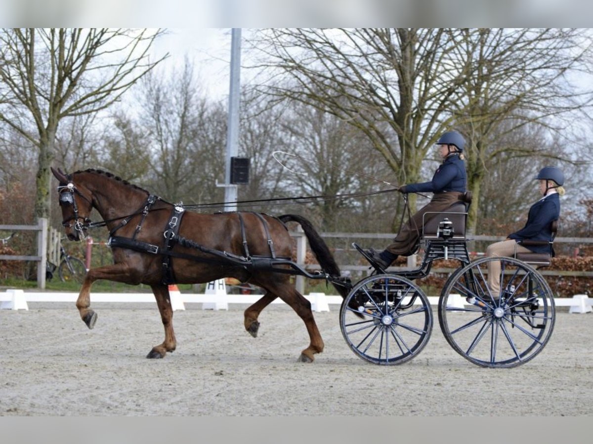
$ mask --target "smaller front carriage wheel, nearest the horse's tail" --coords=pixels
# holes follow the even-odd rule
[[[393,274],[359,281],[342,302],[340,328],[365,361],[400,364],[424,348],[432,332],[432,309],[424,292]]]

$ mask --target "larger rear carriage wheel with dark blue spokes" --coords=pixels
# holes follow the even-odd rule
[[[487,263],[500,260],[500,294],[487,287]],[[512,258],[482,258],[459,268],[439,298],[447,342],[483,367],[515,367],[546,346],[556,311],[552,291],[534,268]]]

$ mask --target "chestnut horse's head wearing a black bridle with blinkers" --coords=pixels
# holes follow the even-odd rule
[[[66,175],[60,169],[56,171],[53,168],[52,173],[60,182],[58,197],[66,236],[70,240],[85,239],[87,224],[91,221],[89,215],[93,210],[93,195],[84,185],[75,183],[73,174]]]

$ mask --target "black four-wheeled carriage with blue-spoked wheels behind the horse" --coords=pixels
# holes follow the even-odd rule
[[[436,259],[456,259],[438,300],[438,320],[451,347],[484,367],[508,368],[533,359],[554,328],[554,299],[537,268],[550,265],[550,254],[516,254],[515,258],[470,261],[466,238],[471,198],[448,211],[434,213],[422,227],[424,250],[419,268],[390,273],[358,245],[372,274],[352,286],[340,308],[340,328],[352,351],[365,361],[396,365],[417,356],[428,343],[433,310],[415,284]],[[556,226],[553,230],[555,233]],[[551,243],[550,243],[551,252]],[[487,263],[500,260],[500,294],[486,285]]]

